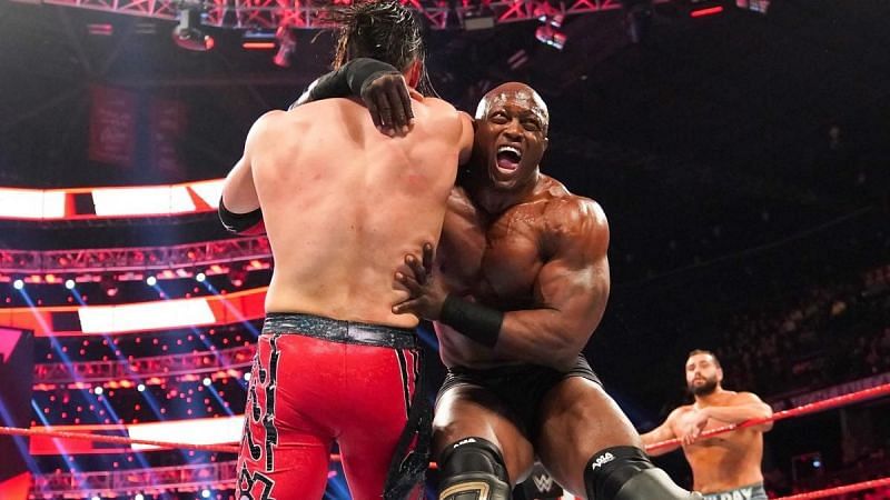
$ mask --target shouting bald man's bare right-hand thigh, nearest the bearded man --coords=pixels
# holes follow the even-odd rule
[[[581,377],[563,380],[542,404],[535,449],[563,488],[584,494],[584,468],[604,448],[640,447],[640,434],[600,384]]]

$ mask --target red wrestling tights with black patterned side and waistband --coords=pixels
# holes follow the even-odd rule
[[[264,328],[245,410],[238,500],[320,499],[334,441],[353,498],[382,498],[414,394],[416,350],[367,344],[367,332],[362,343],[323,336]]]

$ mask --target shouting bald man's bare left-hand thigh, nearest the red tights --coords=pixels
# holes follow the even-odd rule
[[[504,403],[478,386],[459,384],[448,389],[436,403],[433,456],[438,458],[445,447],[468,437],[487,439],[501,450],[512,483],[532,469],[532,443],[507,417]]]

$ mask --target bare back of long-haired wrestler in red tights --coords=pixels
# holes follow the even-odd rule
[[[437,242],[457,170],[462,124],[415,98],[405,137],[382,134],[366,108],[332,99],[275,113],[260,131],[254,182],[275,258],[267,312],[306,312],[411,328],[393,273]]]

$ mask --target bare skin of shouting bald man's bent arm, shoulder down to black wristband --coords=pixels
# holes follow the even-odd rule
[[[553,254],[534,286],[537,307],[504,314],[495,352],[565,369],[587,343],[609,299],[609,226],[592,201],[566,203],[555,221]]]

